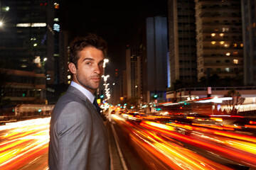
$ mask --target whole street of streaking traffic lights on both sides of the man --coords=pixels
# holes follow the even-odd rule
[[[112,170],[255,169],[252,135],[146,119],[107,113]],[[0,169],[48,169],[49,122],[38,118],[1,125]]]

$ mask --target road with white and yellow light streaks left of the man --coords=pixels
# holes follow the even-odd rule
[[[50,118],[0,126],[0,169],[48,169]]]

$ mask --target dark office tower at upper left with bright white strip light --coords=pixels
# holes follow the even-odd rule
[[[1,67],[53,79],[53,1],[1,0]]]

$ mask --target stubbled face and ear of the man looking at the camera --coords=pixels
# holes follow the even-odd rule
[[[70,72],[73,73],[73,81],[94,94],[100,86],[103,74],[103,52],[95,47],[85,47],[78,55],[77,67],[73,63],[68,65]]]

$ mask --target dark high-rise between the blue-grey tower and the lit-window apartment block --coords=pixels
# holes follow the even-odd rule
[[[169,0],[168,87],[197,81],[195,2]]]

